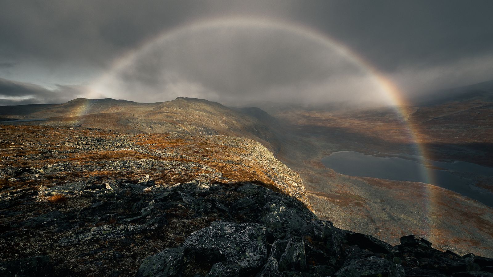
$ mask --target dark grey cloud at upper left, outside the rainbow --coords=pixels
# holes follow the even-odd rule
[[[283,5],[258,3],[254,10],[264,10],[260,15],[276,14]],[[0,55],[105,64],[163,30],[247,7],[241,1],[1,1]]]

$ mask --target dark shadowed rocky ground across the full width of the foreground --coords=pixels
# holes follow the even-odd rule
[[[72,249],[60,252],[64,259],[53,261],[41,256],[2,262],[2,276],[86,275],[80,266],[65,260],[73,258],[70,253],[74,249],[84,252],[75,255],[79,261],[111,270],[102,273],[107,276],[133,275],[125,270],[131,265],[121,263],[129,256],[140,261],[139,277],[493,276],[493,259],[442,252],[414,236],[403,237],[401,244],[391,246],[371,236],[335,228],[299,201],[253,183],[192,181],[142,188],[113,181],[96,187],[85,184],[66,190],[67,195],[79,190],[94,202],[79,214],[51,212],[18,223],[40,232],[51,230],[55,247]],[[119,213],[121,208],[126,212]],[[216,221],[195,228],[181,243],[160,244],[173,247],[153,248],[150,245],[157,244],[151,241],[156,237],[182,234],[182,230],[168,226],[173,216],[163,210],[171,209],[186,213],[182,220],[190,229],[206,214],[213,214]],[[76,224],[78,217],[89,220],[105,215],[119,218],[119,223],[89,229],[74,229],[69,223]],[[12,235],[3,233],[2,238],[12,239]]]

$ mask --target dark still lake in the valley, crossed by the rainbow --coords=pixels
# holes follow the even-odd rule
[[[493,194],[474,185],[474,179],[480,176],[491,179],[493,168],[462,161],[444,163],[423,160],[420,156],[407,154],[377,157],[354,151],[335,152],[322,158],[321,162],[337,173],[350,176],[431,183],[493,207]]]

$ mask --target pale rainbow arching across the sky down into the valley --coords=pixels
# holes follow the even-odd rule
[[[116,59],[111,65],[111,69],[106,71],[105,74],[103,74],[102,76],[100,76],[100,78],[93,82],[91,87],[94,88],[94,94],[89,93],[88,97],[96,96],[96,93],[98,95],[101,95],[99,94],[99,91],[104,91],[104,85],[102,84],[104,84],[106,80],[111,78],[114,72],[131,66],[136,55],[145,54],[146,52],[150,51],[153,45],[156,45],[157,43],[171,41],[175,39],[177,35],[183,34],[185,32],[200,32],[213,28],[231,27],[249,27],[259,29],[267,28],[291,32],[293,33],[293,35],[300,35],[301,37],[305,37],[306,39],[312,40],[331,50],[336,51],[338,54],[348,59],[350,62],[352,62],[352,64],[357,66],[369,77],[371,77],[372,82],[374,82],[375,85],[381,89],[382,96],[387,101],[387,104],[393,107],[396,114],[399,115],[403,122],[406,122],[408,129],[407,131],[410,136],[409,138],[416,145],[416,151],[418,155],[423,158],[427,156],[425,155],[426,151],[417,136],[417,128],[413,126],[410,121],[407,120],[408,114],[405,110],[405,107],[408,106],[408,101],[404,97],[404,93],[388,77],[386,77],[385,74],[380,72],[379,69],[372,66],[362,56],[353,52],[349,47],[347,47],[337,39],[309,27],[293,24],[291,22],[273,21],[265,18],[224,17],[196,21],[191,24],[178,26],[171,30],[165,30],[158,35],[143,41],[138,47],[128,51],[126,54]],[[423,175],[426,177],[428,184],[433,183],[432,174],[429,170],[426,170]],[[428,188],[428,185],[425,186],[425,189],[427,190],[427,195],[431,197],[430,194],[433,193],[433,190]],[[427,206],[430,206],[430,203],[428,203]]]

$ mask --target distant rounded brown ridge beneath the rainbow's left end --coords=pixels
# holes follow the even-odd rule
[[[271,148],[268,128],[254,117],[203,99],[136,103],[114,99],[77,98],[64,104],[1,106],[3,120],[43,119],[21,124],[83,126],[131,134],[186,133],[252,138]],[[270,142],[268,142],[270,141]]]

